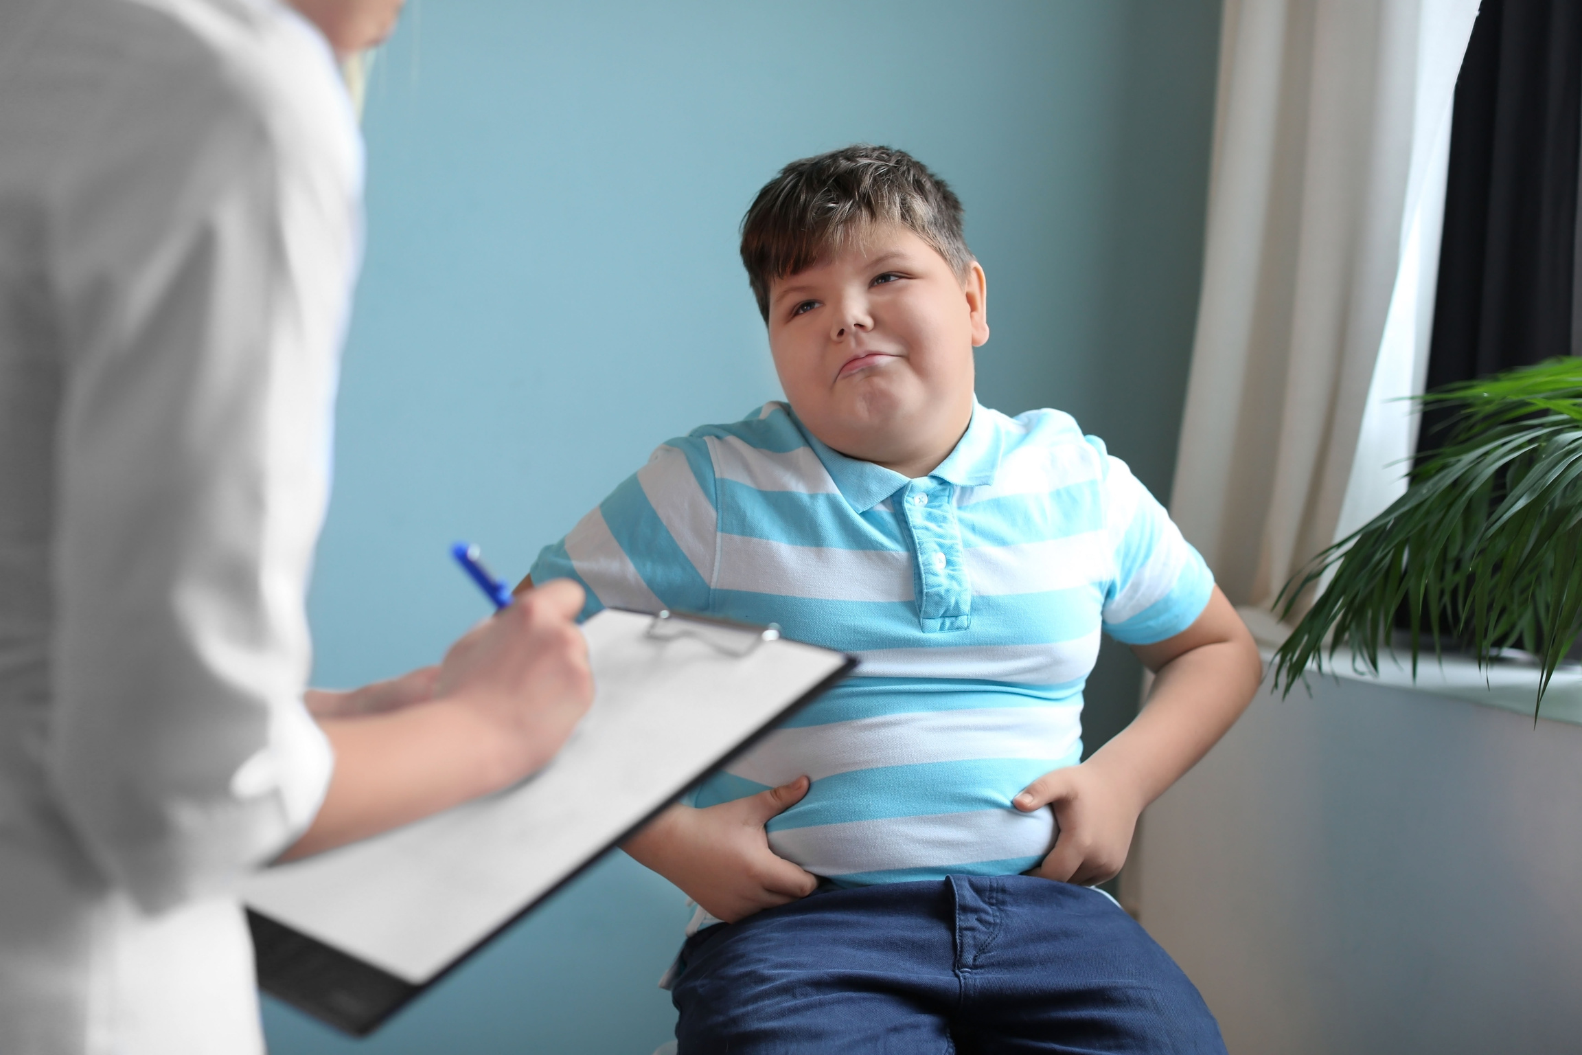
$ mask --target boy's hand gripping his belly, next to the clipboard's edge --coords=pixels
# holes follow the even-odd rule
[[[679,886],[709,914],[734,924],[818,889],[818,876],[769,849],[764,832],[764,824],[800,802],[808,786],[807,777],[797,777],[789,785],[702,810],[674,805],[622,849]]]

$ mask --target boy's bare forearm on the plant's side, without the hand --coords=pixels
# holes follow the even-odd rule
[[[1155,669],[1153,691],[1137,718],[1088,759],[1133,788],[1139,810],[1209,753],[1262,680],[1258,645],[1218,587],[1188,634],[1136,649]]]

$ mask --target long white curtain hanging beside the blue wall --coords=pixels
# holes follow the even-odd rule
[[[1226,0],[1171,514],[1266,609],[1405,487],[1478,0]],[[1255,631],[1258,628],[1255,626]]]

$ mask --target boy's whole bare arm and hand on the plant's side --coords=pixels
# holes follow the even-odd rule
[[[1120,872],[1137,815],[1209,753],[1262,680],[1258,645],[1220,587],[1185,631],[1131,650],[1155,672],[1142,713],[1085,762],[1044,773],[1012,800],[1025,813],[1052,805],[1060,824],[1033,875],[1093,884]]]

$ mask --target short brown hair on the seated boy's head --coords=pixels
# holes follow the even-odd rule
[[[905,150],[857,144],[802,158],[764,183],[742,217],[742,264],[769,318],[769,286],[819,263],[872,223],[899,223],[965,278],[962,202]]]

